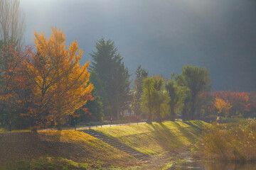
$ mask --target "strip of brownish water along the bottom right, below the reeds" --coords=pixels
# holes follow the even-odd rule
[[[173,164],[169,170],[202,169],[202,170],[256,170],[256,163],[235,164],[223,162],[189,161]]]

